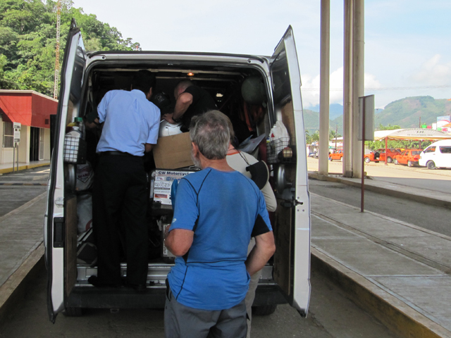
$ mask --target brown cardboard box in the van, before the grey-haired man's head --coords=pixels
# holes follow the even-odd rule
[[[191,139],[189,132],[159,137],[152,150],[156,168],[178,169],[194,165],[191,159]]]

